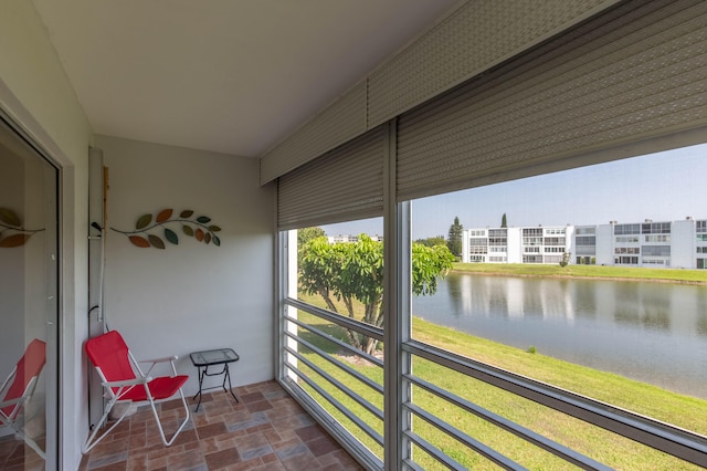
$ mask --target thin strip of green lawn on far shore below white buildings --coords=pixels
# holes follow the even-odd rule
[[[454,263],[453,271],[506,276],[598,278],[707,284],[707,270],[646,269],[602,265],[541,265],[529,263]]]

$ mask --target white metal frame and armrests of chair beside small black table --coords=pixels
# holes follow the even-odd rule
[[[177,431],[175,431],[175,433],[172,435],[172,437],[167,440],[167,438],[165,437],[165,430],[162,428],[162,423],[159,419],[159,415],[157,414],[157,408],[155,407],[156,404],[160,404],[160,402],[165,402],[167,400],[169,400],[170,398],[165,398],[165,399],[160,399],[160,400],[156,400],[152,398],[152,394],[150,393],[150,389],[148,387],[149,383],[154,379],[151,376],[149,376],[149,374],[152,371],[152,368],[155,368],[156,365],[160,364],[160,363],[167,363],[169,362],[170,366],[171,366],[171,371],[172,371],[172,376],[177,376],[177,368],[175,367],[175,360],[177,360],[179,357],[177,355],[175,356],[170,356],[170,357],[165,357],[165,358],[155,358],[155,359],[145,359],[145,360],[136,360],[135,357],[133,356],[133,353],[130,353],[130,350],[128,349],[128,358],[130,359],[130,364],[133,366],[134,371],[136,373],[136,378],[135,379],[128,379],[128,380],[123,380],[123,381],[108,381],[105,377],[105,375],[103,374],[102,369],[98,366],[94,367],[96,368],[96,371],[98,371],[98,376],[101,376],[101,384],[103,385],[104,389],[105,389],[105,394],[104,397],[106,397],[108,399],[108,402],[105,406],[105,411],[103,414],[103,417],[101,417],[101,420],[98,420],[98,423],[96,423],[94,426],[93,432],[91,433],[91,436],[88,437],[88,439],[86,440],[86,443],[83,447],[82,452],[83,453],[87,453],[88,451],[91,451],[91,449],[93,449],[96,444],[98,444],[98,442],[101,442],[101,440],[103,440],[108,433],[110,433],[110,431],[113,431],[113,429],[115,429],[122,421],[123,419],[127,416],[127,412],[129,410],[128,407],[125,408],[125,411],[123,412],[123,415],[120,415],[120,417],[116,420],[115,423],[113,423],[108,430],[106,430],[105,432],[103,432],[99,437],[96,438],[96,435],[98,433],[98,430],[103,427],[104,422],[107,421],[108,419],[108,414],[110,414],[110,410],[113,409],[113,407],[116,404],[149,404],[150,408],[152,409],[152,415],[155,416],[155,421],[157,422],[157,428],[159,429],[159,435],[162,439],[162,443],[165,443],[166,447],[169,447],[170,444],[172,444],[175,442],[175,439],[177,438],[177,436],[179,435],[179,432],[181,432],[181,430],[184,428],[184,426],[187,425],[187,422],[189,421],[189,407],[187,406],[187,400],[184,399],[184,394],[181,389],[181,387],[179,388],[179,396],[181,398],[181,402],[184,407],[184,412],[187,414],[187,417],[184,418],[184,420],[179,425],[179,428],[177,429]],[[139,363],[151,363],[149,369],[147,370],[147,373],[143,373],[143,370],[139,367]],[[124,397],[128,391],[130,391],[133,388],[135,387],[144,387],[145,388],[145,393],[147,395],[147,400],[141,400],[141,401],[135,401],[133,399],[122,399],[122,397]],[[114,388],[117,388],[117,390],[114,390]]]

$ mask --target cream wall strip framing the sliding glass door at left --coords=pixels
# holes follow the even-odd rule
[[[81,350],[87,324],[87,150],[93,132],[44,25],[25,0],[0,1],[0,108],[62,169],[60,446],[62,468],[76,469],[88,423]],[[48,367],[56,362],[50,357]]]

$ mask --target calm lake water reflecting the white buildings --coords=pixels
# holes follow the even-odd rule
[[[413,314],[707,398],[707,286],[451,273]]]

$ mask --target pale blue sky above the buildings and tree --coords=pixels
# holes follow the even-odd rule
[[[707,219],[707,144],[412,201],[412,238],[465,229]],[[323,226],[327,236],[382,234],[382,218]]]

